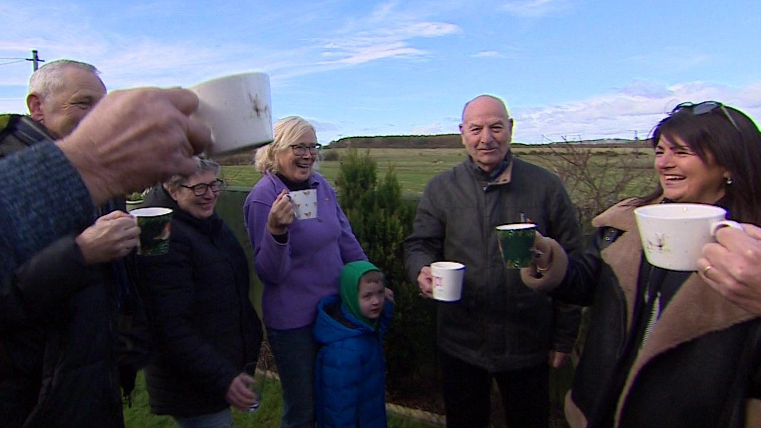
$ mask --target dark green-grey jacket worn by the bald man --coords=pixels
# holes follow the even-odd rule
[[[466,265],[462,299],[438,304],[438,346],[490,372],[546,363],[549,350],[568,353],[578,331],[578,308],[533,292],[519,270],[505,268],[495,227],[522,221],[566,251],[579,246],[577,215],[559,177],[514,158],[490,181],[468,158],[428,183],[405,242],[412,283],[431,262]]]

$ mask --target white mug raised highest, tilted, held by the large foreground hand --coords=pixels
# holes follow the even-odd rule
[[[213,154],[239,152],[272,142],[268,75],[228,75],[189,89],[199,97],[193,117],[212,129]]]

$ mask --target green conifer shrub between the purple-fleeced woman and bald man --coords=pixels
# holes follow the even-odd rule
[[[435,367],[435,308],[421,299],[404,270],[404,238],[412,232],[416,201],[402,195],[389,168],[377,180],[370,152],[348,149],[336,183],[339,203],[369,260],[386,276],[395,295],[395,311],[385,340],[389,378]],[[435,370],[431,370],[435,372]]]

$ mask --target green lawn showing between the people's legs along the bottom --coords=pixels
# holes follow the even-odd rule
[[[280,424],[281,409],[280,385],[275,379],[267,379],[263,390],[262,406],[250,414],[233,410],[233,426],[235,428],[276,428]],[[174,428],[177,426],[171,417],[151,414],[142,372],[139,373],[135,391],[132,392],[132,407],[124,408],[124,422],[126,428]],[[388,426],[390,428],[433,427],[395,414],[388,414]]]

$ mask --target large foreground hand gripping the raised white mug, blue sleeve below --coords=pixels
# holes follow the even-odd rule
[[[100,205],[196,171],[193,154],[211,142],[209,128],[189,117],[197,107],[179,88],[113,91],[57,145]]]

